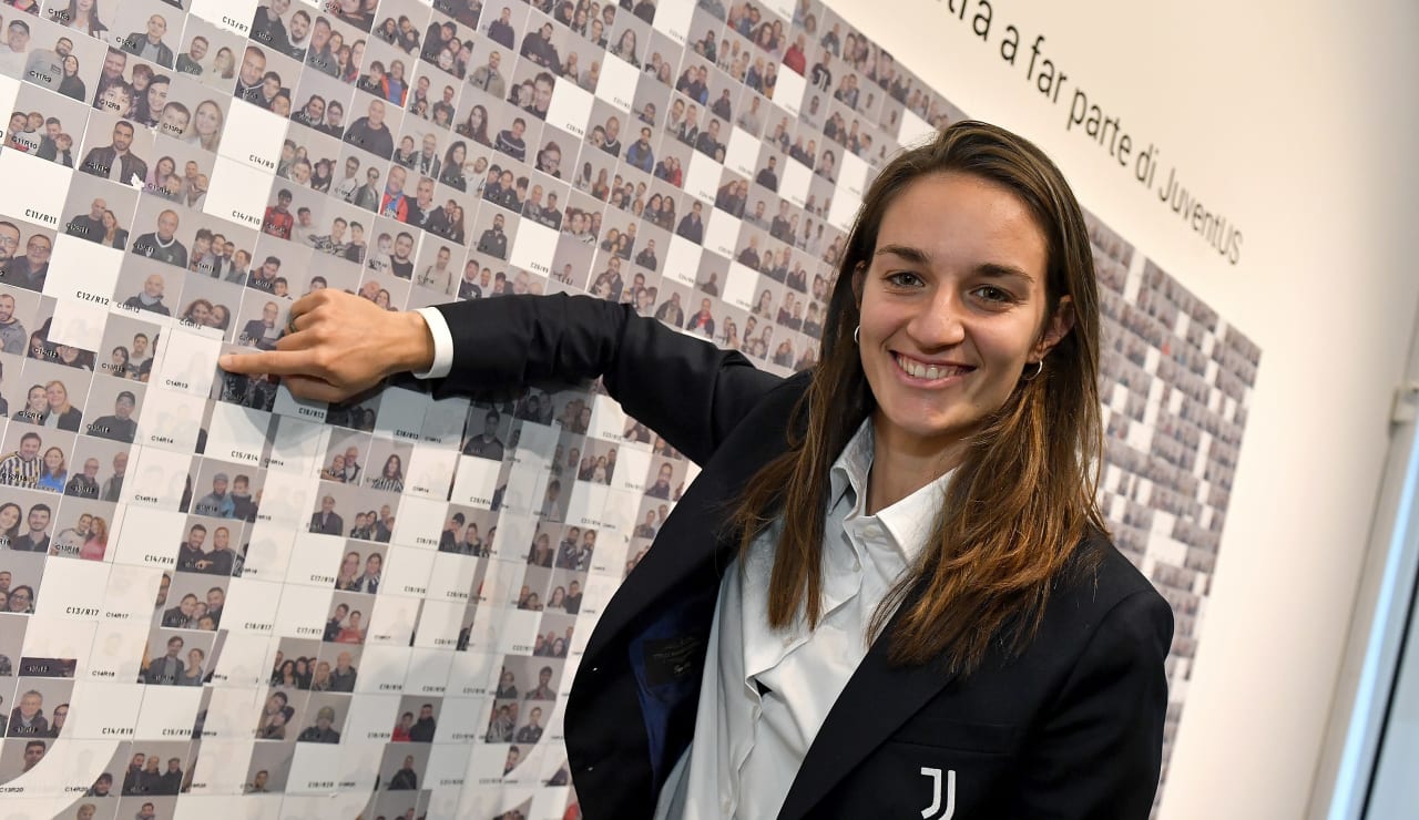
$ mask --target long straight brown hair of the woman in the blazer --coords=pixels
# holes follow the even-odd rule
[[[966,173],[1025,203],[1047,240],[1046,316],[1071,298],[1074,323],[1036,377],[1022,375],[1006,403],[975,433],[937,512],[928,549],[887,594],[870,636],[898,617],[890,658],[920,665],[944,657],[951,671],[979,668],[992,643],[1023,651],[1039,630],[1051,583],[1091,531],[1105,531],[1094,501],[1103,460],[1098,409],[1098,289],[1084,216],[1063,174],[1029,140],[958,122],[931,143],[888,162],[849,234],[823,325],[823,358],[799,401],[789,448],[745,487],[734,523],[741,552],[771,522],[782,529],[769,577],[769,626],[802,611],[823,616],[823,525],[833,461],[876,409],[853,343],[854,274],[871,261],[887,207],[928,174]],[[1033,376],[1033,367],[1029,369]],[[1091,566],[1097,556],[1080,562]]]

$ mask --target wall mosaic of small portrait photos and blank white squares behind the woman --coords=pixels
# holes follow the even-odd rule
[[[316,288],[580,292],[812,367],[874,170],[964,113],[817,0],[7,0],[0,33],[7,810],[576,816],[572,672],[695,465],[596,384],[324,406],[217,356]],[[1259,350],[1090,227],[1171,742]]]

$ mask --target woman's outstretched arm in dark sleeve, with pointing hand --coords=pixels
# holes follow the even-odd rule
[[[603,376],[629,414],[701,464],[780,382],[738,352],[590,297],[497,297],[437,311],[453,335],[447,389]],[[291,312],[297,332],[277,342],[277,350],[223,358],[223,369],[275,373],[297,396],[336,401],[434,363],[434,342],[419,314],[387,312],[329,289],[302,298]]]

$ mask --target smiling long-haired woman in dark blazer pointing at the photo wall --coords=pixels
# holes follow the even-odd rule
[[[888,162],[789,379],[587,297],[291,315],[221,366],[328,401],[600,376],[702,467],[578,667],[589,816],[1148,817],[1172,613],[1094,502],[1093,257],[1029,142],[961,122]]]

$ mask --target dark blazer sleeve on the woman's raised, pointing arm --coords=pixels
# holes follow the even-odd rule
[[[446,384],[482,390],[602,376],[631,417],[695,464],[782,382],[736,350],[592,297],[509,295],[437,309],[454,343]]]

